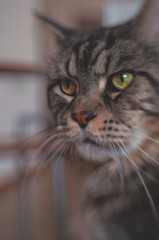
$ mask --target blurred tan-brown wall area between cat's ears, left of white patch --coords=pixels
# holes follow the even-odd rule
[[[48,16],[62,24],[85,29],[101,25],[104,2],[104,0],[43,0],[43,9]]]

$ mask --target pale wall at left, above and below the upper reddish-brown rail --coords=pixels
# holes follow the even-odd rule
[[[0,0],[0,65],[30,66],[39,62],[35,6],[36,0]],[[39,77],[0,72],[0,143],[15,140],[15,124],[22,114],[44,108],[46,89]]]

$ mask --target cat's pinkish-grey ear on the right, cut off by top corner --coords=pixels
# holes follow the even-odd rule
[[[159,0],[145,0],[137,16],[137,31],[149,41],[159,40]]]

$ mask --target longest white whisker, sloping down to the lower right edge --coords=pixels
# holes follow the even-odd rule
[[[124,150],[123,150],[123,148],[120,146],[120,144],[118,144],[118,143],[117,143],[117,144],[118,144],[118,146],[120,147],[121,151],[124,152],[124,155],[126,154],[127,159],[129,160],[129,162],[130,162],[130,164],[132,165],[133,169],[135,170],[135,172],[136,172],[136,174],[137,174],[140,182],[142,183],[142,185],[143,185],[143,187],[144,187],[144,189],[145,189],[145,192],[146,192],[146,194],[147,194],[147,197],[148,197],[148,200],[149,200],[149,203],[150,203],[152,212],[153,212],[153,216],[154,216],[155,220],[158,222],[158,221],[159,221],[159,216],[158,216],[158,213],[157,213],[157,210],[156,210],[154,201],[153,201],[153,199],[152,199],[152,197],[151,197],[151,194],[150,194],[150,192],[149,192],[149,190],[148,190],[148,188],[147,188],[147,186],[146,186],[146,183],[145,183],[145,181],[144,181],[144,179],[143,179],[143,177],[142,177],[142,175],[141,175],[141,173],[140,173],[137,165],[135,164],[133,158],[132,158],[131,155],[129,154],[127,148],[125,147],[125,145],[123,144],[123,142],[122,142],[122,140],[121,140],[120,138],[119,138],[119,141],[120,141],[121,145],[123,146]]]

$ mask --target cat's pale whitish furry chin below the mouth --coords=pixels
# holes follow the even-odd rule
[[[87,143],[84,141],[79,143],[76,145],[76,150],[82,158],[88,161],[106,162],[112,157],[109,148],[103,148],[93,142]]]

